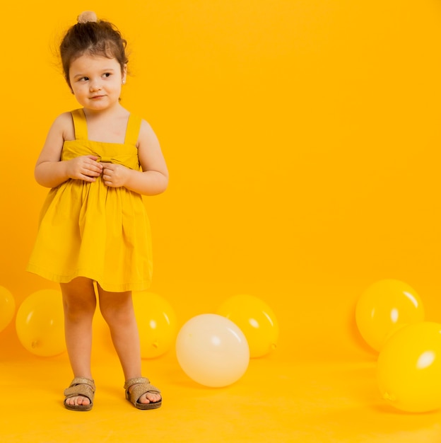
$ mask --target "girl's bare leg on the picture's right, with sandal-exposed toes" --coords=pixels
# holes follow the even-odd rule
[[[98,294],[100,311],[109,325],[125,379],[141,377],[141,349],[131,292],[107,292],[98,285]],[[154,403],[159,400],[160,395],[146,393],[139,402]]]

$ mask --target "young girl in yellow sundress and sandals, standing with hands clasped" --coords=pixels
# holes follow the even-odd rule
[[[145,120],[119,103],[127,77],[126,41],[95,13],[78,17],[60,45],[71,93],[81,109],[59,115],[35,166],[35,179],[52,188],[42,207],[28,270],[59,282],[66,347],[74,379],[64,405],[90,410],[92,320],[100,311],[136,408],[161,405],[160,391],[141,376],[139,335],[131,291],[151,280],[151,243],[141,195],[167,188],[158,139]]]

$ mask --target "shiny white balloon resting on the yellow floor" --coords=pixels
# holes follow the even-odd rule
[[[185,374],[214,388],[233,384],[249,364],[245,335],[233,321],[213,313],[193,317],[182,326],[176,355]]]

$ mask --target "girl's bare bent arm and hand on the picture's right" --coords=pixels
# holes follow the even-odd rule
[[[102,178],[107,186],[125,188],[143,195],[158,195],[167,189],[168,171],[158,138],[146,120],[141,123],[138,146],[142,171],[114,163],[103,163]]]

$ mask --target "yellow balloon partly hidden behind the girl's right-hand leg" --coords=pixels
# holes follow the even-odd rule
[[[132,297],[138,323],[141,357],[159,357],[175,344],[175,311],[166,299],[153,292],[134,292]]]

